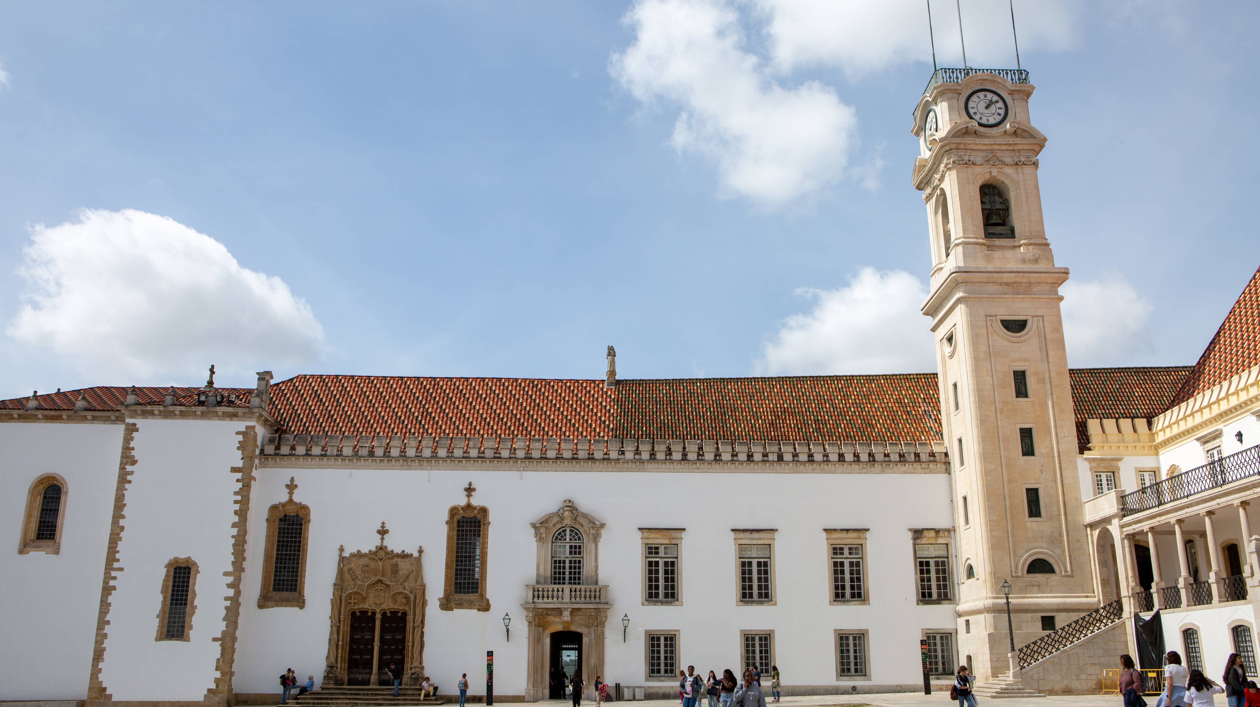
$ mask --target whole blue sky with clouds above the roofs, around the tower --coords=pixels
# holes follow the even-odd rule
[[[0,5],[3,392],[930,371],[926,18],[867,5]],[[1071,363],[1193,363],[1260,265],[1260,6],[1014,9]]]

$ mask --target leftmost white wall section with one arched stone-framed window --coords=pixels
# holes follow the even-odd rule
[[[113,513],[122,425],[0,425],[0,699],[83,699]],[[66,479],[60,552],[18,555],[26,490]],[[43,638],[44,640],[40,640]]]

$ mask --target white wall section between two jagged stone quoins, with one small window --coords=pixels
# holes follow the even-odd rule
[[[115,699],[200,701],[214,686],[243,422],[139,420],[101,682]],[[112,494],[111,494],[112,497]],[[96,563],[103,567],[103,548]],[[166,562],[198,565],[188,641],[156,640]],[[100,596],[100,578],[96,592]],[[91,644],[88,647],[91,649]],[[160,675],[179,675],[164,679]]]

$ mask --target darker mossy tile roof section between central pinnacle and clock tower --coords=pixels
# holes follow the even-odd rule
[[[617,437],[664,440],[941,439],[935,373],[630,379]]]

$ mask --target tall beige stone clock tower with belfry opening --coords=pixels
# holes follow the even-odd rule
[[[1014,647],[1097,607],[1076,471],[1058,287],[1042,223],[1028,72],[932,74],[915,108],[941,423],[951,455],[959,660],[989,679]]]

